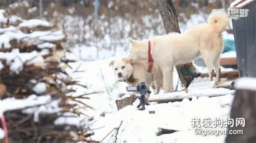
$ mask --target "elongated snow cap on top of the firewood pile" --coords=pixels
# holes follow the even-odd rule
[[[50,27],[51,24],[47,21],[40,20],[40,19],[30,19],[25,22],[22,22],[19,24],[19,27],[29,27],[29,28],[35,28],[37,26],[46,26]]]

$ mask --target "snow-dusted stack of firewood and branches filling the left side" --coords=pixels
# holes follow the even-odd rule
[[[0,143],[91,142],[89,107],[72,96],[67,36],[47,21],[0,10]],[[85,87],[80,85],[81,87]],[[86,87],[85,87],[86,88]]]

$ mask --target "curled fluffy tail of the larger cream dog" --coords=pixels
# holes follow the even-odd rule
[[[228,15],[223,10],[212,11],[207,21],[210,25],[213,25],[218,32],[225,31],[226,26],[229,25]]]

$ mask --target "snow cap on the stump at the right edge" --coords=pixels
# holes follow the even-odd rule
[[[249,89],[256,90],[256,78],[253,77],[241,77],[236,80],[234,87],[235,89]]]

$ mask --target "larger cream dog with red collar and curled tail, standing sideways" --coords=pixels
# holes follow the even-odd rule
[[[216,81],[220,81],[220,55],[223,51],[222,32],[229,25],[227,14],[214,11],[208,17],[208,24],[197,25],[186,33],[169,33],[132,43],[129,57],[132,62],[148,59],[148,40],[151,55],[163,73],[164,93],[173,90],[173,68],[175,65],[191,62],[202,55],[212,81],[212,70],[216,70]]]

